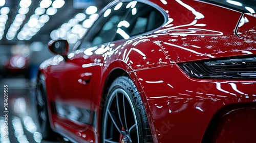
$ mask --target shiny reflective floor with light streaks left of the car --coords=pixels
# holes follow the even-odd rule
[[[0,78],[0,95],[0,142],[68,142],[60,136],[53,141],[42,139],[35,124],[34,84],[30,80]]]

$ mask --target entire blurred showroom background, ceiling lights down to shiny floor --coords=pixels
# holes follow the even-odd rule
[[[35,126],[34,89],[40,63],[53,54],[47,44],[74,45],[111,0],[0,0],[0,142],[42,140]],[[4,137],[4,86],[8,85],[8,131]]]

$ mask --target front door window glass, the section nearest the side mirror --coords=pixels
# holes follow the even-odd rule
[[[129,10],[126,6],[129,2],[118,3],[105,10],[105,12],[95,21],[90,31],[80,45],[80,49],[88,46],[110,42],[114,39],[117,25]]]

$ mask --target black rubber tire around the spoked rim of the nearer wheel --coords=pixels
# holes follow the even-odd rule
[[[102,129],[101,142],[104,142],[103,134],[104,134],[104,127],[105,127],[104,121],[105,121],[105,114],[106,114],[106,105],[108,105],[108,102],[110,102],[110,96],[112,92],[118,88],[124,90],[128,94],[132,102],[132,105],[135,111],[136,120],[137,120],[138,131],[139,131],[138,142],[153,142],[150,125],[148,124],[146,111],[145,111],[143,102],[141,100],[139,91],[136,88],[133,81],[129,77],[125,77],[125,76],[118,77],[117,79],[115,79],[111,84],[108,93],[106,94],[106,100],[105,100],[106,103],[102,112],[103,120],[102,120],[102,126],[101,126],[101,129]]]

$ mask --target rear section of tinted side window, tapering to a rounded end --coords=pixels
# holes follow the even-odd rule
[[[154,30],[164,22],[163,14],[151,6],[136,1],[127,6],[130,11],[125,20],[118,24],[115,40],[127,39]]]

